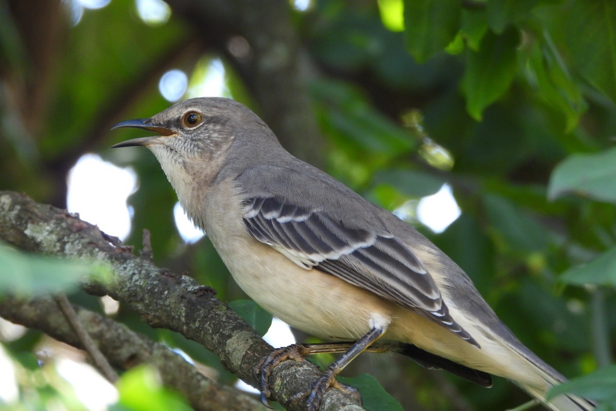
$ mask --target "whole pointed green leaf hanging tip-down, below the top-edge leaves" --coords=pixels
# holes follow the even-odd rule
[[[466,111],[477,121],[485,107],[495,102],[509,89],[516,75],[517,30],[503,35],[487,33],[479,52],[467,51],[462,91],[466,96]]]

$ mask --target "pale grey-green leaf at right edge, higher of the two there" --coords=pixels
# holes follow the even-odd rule
[[[554,169],[548,198],[569,193],[616,203],[616,147],[601,153],[573,154]]]

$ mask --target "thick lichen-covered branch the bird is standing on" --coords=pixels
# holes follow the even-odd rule
[[[0,192],[0,239],[22,250],[99,262],[113,267],[113,282],[90,282],[84,289],[128,304],[152,327],[168,328],[197,341],[221,357],[225,367],[249,385],[258,386],[257,370],[272,347],[235,312],[214,297],[214,290],[190,277],[137,258],[131,248],[115,245],[98,227],[75,214],[35,203],[15,192]],[[318,377],[307,361],[285,361],[272,371],[275,401],[285,404]],[[290,410],[303,410],[301,401]],[[328,389],[322,410],[361,410],[349,395]]]

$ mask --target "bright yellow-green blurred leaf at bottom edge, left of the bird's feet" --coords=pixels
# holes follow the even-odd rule
[[[190,411],[192,408],[177,394],[164,388],[158,371],[152,367],[138,365],[125,372],[116,383],[120,401],[111,410],[151,411],[175,410]]]

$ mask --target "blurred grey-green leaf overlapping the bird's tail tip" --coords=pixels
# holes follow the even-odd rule
[[[588,375],[580,376],[557,385],[548,391],[547,399],[559,394],[578,396],[601,401],[597,410],[609,411],[616,407],[616,365],[600,368]]]

